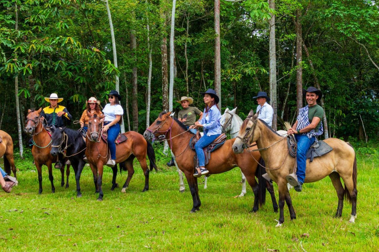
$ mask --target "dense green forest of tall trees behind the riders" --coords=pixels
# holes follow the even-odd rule
[[[220,93],[222,111],[238,107],[243,119],[257,106],[252,97],[268,92],[280,129],[279,118],[293,122],[305,104],[300,90],[315,86],[324,137],[378,139],[377,1],[111,0],[116,50],[108,1],[0,3],[0,129],[15,146],[27,144],[27,110],[47,106],[50,93],[78,120],[86,99],[104,106],[115,88],[126,131],[142,133],[163,109],[179,111],[180,96],[202,109],[199,92],[208,88]]]

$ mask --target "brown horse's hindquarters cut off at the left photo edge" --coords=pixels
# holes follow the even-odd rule
[[[13,159],[13,140],[5,131],[0,130],[0,157],[4,156],[4,170],[8,175],[16,177],[16,166]],[[17,177],[16,177],[17,178]]]

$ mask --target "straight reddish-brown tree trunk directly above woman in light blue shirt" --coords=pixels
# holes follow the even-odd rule
[[[215,0],[215,91],[220,98],[221,109],[221,49],[220,49],[220,0]]]

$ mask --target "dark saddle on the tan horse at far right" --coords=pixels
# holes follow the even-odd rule
[[[287,136],[287,145],[288,145],[288,148],[290,149],[290,155],[292,157],[295,157],[298,144],[296,142],[296,138],[293,135]],[[310,146],[309,150],[307,151],[306,156],[307,156],[307,159],[309,159],[309,162],[312,162],[315,157],[321,157],[332,150],[333,150],[332,147],[330,147],[324,141],[320,140],[320,141],[314,142]]]

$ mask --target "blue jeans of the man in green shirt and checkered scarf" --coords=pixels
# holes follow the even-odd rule
[[[296,162],[298,165],[298,170],[296,175],[298,176],[298,181],[304,183],[305,179],[305,165],[307,164],[307,151],[310,146],[316,141],[315,137],[308,138],[306,135],[295,135],[296,141],[298,142],[298,150],[296,152]]]

